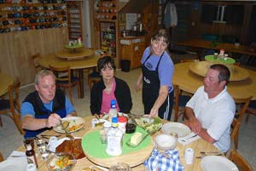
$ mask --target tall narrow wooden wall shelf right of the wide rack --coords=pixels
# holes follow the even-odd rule
[[[83,39],[82,1],[67,1],[69,40]]]

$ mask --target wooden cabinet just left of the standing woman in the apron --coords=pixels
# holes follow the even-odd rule
[[[145,50],[145,37],[121,37],[120,58],[131,60],[131,68],[141,66],[143,52]]]

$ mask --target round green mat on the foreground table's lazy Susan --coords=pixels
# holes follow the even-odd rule
[[[143,136],[147,134],[143,128],[136,128],[136,132],[143,133]],[[133,133],[135,134],[135,133]],[[123,138],[123,152],[122,154],[128,154],[133,151],[138,151],[141,150],[148,145],[150,145],[150,136],[146,137],[145,140],[137,147],[130,147],[126,145],[126,141],[130,140],[131,136],[133,134],[125,134]],[[107,149],[107,144],[102,144],[101,138],[100,138],[100,130],[95,130],[92,132],[89,132],[88,134],[85,134],[82,140],[82,148],[86,152],[86,154],[90,155],[91,157],[96,157],[96,158],[109,158],[112,157],[107,154],[106,149]]]

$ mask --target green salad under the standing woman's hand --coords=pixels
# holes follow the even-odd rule
[[[160,117],[140,117],[135,120],[137,126],[143,128],[148,134],[154,134],[162,126]]]

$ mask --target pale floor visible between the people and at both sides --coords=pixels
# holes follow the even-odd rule
[[[177,60],[177,59],[175,59]],[[140,70],[135,69],[130,72],[116,71],[116,76],[124,79],[131,88],[131,96],[133,107],[133,113],[143,113],[143,104],[141,98],[141,91],[136,91],[135,83]],[[80,117],[90,115],[90,92],[86,85],[84,92],[84,99],[77,99],[74,93],[74,107],[77,110]],[[24,100],[26,94],[33,90],[33,86],[20,89],[20,101]],[[22,144],[23,137],[19,134],[19,131],[15,127],[15,124],[9,117],[2,117],[3,128],[0,128],[0,151],[3,153],[3,157],[9,156],[11,151],[14,151],[18,146]],[[243,157],[246,157],[247,161],[251,163],[253,168],[256,170],[256,117],[250,117],[247,124],[243,122],[241,124],[240,136],[239,136],[239,147],[238,151],[241,152]]]

